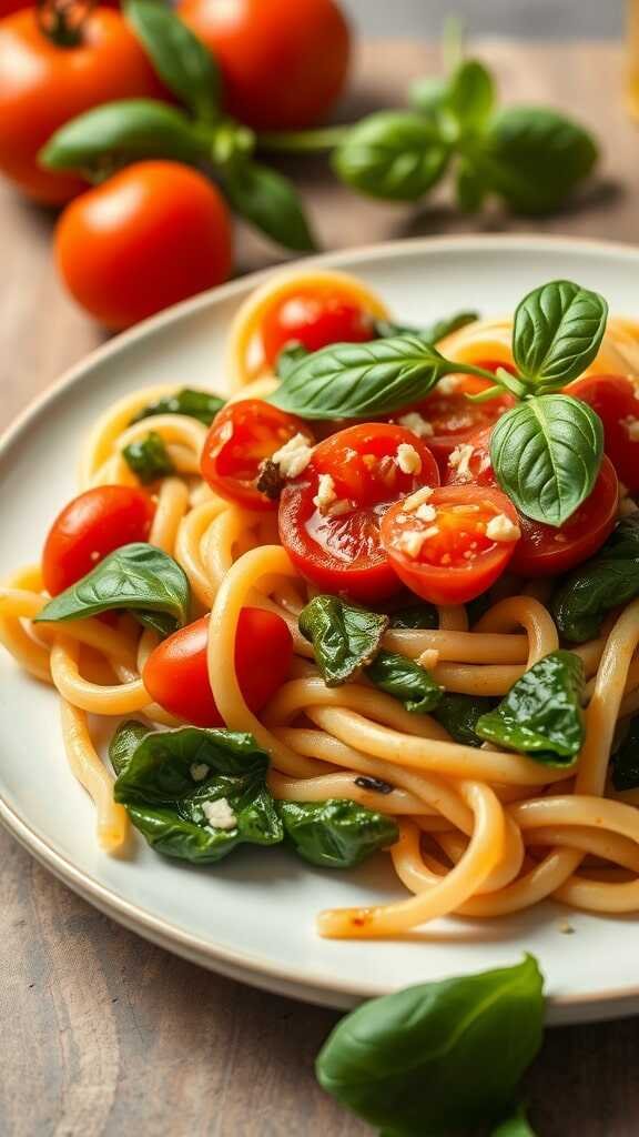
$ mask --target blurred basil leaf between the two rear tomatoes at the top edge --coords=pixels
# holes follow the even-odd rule
[[[176,13],[157,0],[126,0],[126,23],[153,70],[196,118],[213,122],[219,113],[219,68],[201,40]]]

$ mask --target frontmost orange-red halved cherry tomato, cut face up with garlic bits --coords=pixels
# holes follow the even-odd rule
[[[417,509],[406,512],[405,504],[389,509],[381,538],[397,575],[417,596],[465,604],[501,575],[520,530],[517,511],[500,490],[442,485]],[[497,517],[498,530],[488,536]]]

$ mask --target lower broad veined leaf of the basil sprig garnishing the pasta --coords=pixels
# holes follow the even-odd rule
[[[497,420],[490,460],[501,489],[526,517],[558,528],[592,492],[604,428],[569,395],[526,399]]]

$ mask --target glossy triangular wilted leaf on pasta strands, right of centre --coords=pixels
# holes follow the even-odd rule
[[[571,765],[586,738],[583,663],[572,652],[551,652],[475,724],[480,738],[521,750],[549,766]]]

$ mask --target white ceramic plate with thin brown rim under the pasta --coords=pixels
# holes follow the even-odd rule
[[[460,308],[512,310],[559,276],[600,290],[637,315],[639,250],[539,236],[429,239],[316,258],[359,274],[406,322]],[[259,277],[180,305],[96,351],[41,399],[0,447],[0,574],[39,557],[58,508],[75,492],[82,437],[114,399],[174,381],[223,390],[229,319]],[[102,853],[91,803],[67,769],[53,694],[0,653],[0,816],[48,869],[141,936],[224,974],[282,994],[348,1006],[412,982],[540,960],[549,1018],[570,1022],[639,1011],[639,920],[543,905],[508,919],[438,921],[404,941],[321,939],[326,906],[399,895],[385,860],[359,871],[315,870],[279,850],[241,849],[216,869],[164,861],[136,840],[128,858]],[[566,915],[574,935],[562,932]]]

